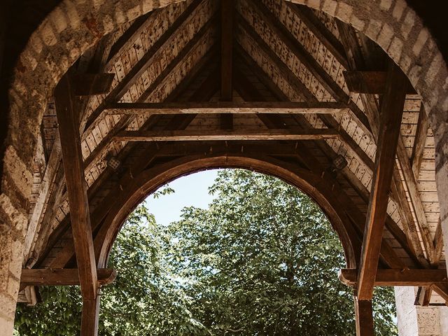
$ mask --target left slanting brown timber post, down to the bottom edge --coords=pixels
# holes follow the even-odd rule
[[[99,296],[97,265],[94,257],[90,211],[85,186],[83,156],[80,144],[80,116],[69,76],[64,76],[55,88],[55,106],[62,162],[70,204],[73,242],[78,263],[83,316],[81,336],[97,336]]]

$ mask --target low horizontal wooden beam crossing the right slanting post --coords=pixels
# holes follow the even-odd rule
[[[339,280],[347,286],[357,286],[358,269],[341,269]],[[430,286],[446,283],[446,269],[378,269],[374,286]]]

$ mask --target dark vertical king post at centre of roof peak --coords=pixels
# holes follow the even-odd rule
[[[221,0],[221,101],[232,102],[234,0]],[[221,129],[232,130],[233,116],[221,113]]]

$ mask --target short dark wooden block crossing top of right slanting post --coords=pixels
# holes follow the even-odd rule
[[[344,71],[344,78],[350,92],[384,94],[386,92],[386,71]],[[416,94],[409,80],[405,83],[407,94]]]

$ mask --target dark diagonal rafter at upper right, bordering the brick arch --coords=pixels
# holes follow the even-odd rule
[[[286,2],[286,5],[290,10],[297,15],[298,18],[307,26],[311,33],[318,38],[318,40],[325,45],[325,48],[331,52],[345,69],[349,68],[349,64],[346,59],[345,50],[342,43],[332,34],[330,30],[323,24],[319,18],[313,13],[310,8],[306,6],[300,6],[295,3]]]

